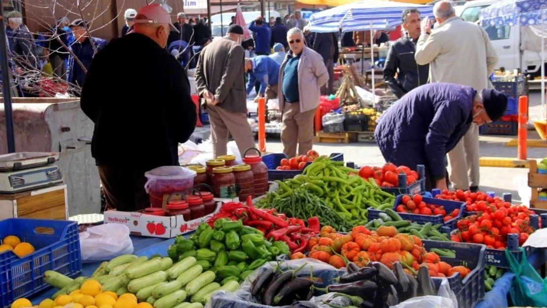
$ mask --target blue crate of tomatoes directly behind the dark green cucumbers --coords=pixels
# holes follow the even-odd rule
[[[397,208],[397,206],[400,204],[401,199],[403,199],[402,195],[397,196],[395,199],[395,204],[393,205],[393,210]],[[434,204],[434,205],[440,205],[443,206],[446,210],[446,213],[450,213],[453,210],[456,210],[456,208],[459,208],[458,216],[450,219],[447,222],[444,222],[443,216],[441,215],[421,215],[421,214],[409,214],[409,213],[398,213],[401,218],[404,220],[410,220],[411,222],[420,223],[420,224],[426,224],[426,223],[432,223],[434,225],[441,224],[443,226],[447,226],[450,228],[450,230],[456,229],[456,223],[459,219],[464,217],[465,215],[465,202],[458,202],[458,201],[452,201],[452,200],[443,200],[443,199],[435,199],[435,198],[428,198],[423,197],[423,202],[426,202],[427,204]],[[375,210],[374,207],[369,208],[369,221],[378,218],[378,214],[383,213],[383,211]]]

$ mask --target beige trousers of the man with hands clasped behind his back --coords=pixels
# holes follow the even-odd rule
[[[213,144],[213,155],[218,157],[226,155],[228,148],[228,137],[231,134],[236,141],[237,148],[241,155],[248,148],[254,148],[253,132],[247,122],[245,113],[234,113],[226,111],[218,106],[207,105],[209,122],[211,123],[211,141]]]

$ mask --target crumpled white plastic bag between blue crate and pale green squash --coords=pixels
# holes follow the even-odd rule
[[[133,242],[126,225],[92,226],[79,235],[83,262],[108,261],[118,255],[133,253]]]

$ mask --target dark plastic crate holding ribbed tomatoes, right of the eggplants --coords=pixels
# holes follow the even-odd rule
[[[484,269],[486,267],[486,246],[471,243],[440,242],[422,240],[426,249],[451,249],[456,252],[456,258],[440,257],[446,263],[457,266],[467,263],[471,272],[462,279],[458,273],[447,277],[450,289],[458,300],[458,308],[473,308],[479,300],[484,298]],[[437,285],[443,278],[433,277]]]

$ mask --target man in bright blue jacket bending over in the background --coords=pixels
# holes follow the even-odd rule
[[[277,97],[279,69],[281,65],[269,56],[256,56],[252,59],[245,59],[245,71],[249,73],[247,82],[247,95],[251,93],[256,82],[260,83],[260,90],[257,98],[266,95],[266,103],[268,100]]]

